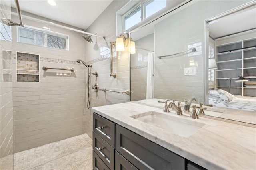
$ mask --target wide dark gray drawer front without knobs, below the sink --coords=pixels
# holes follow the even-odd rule
[[[185,159],[116,125],[116,150],[138,169],[185,170]]]

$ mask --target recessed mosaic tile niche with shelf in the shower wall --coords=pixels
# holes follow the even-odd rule
[[[39,55],[17,52],[17,82],[39,82]]]

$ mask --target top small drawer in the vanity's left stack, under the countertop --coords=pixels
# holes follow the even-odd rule
[[[113,148],[115,147],[115,124],[93,113],[93,131]]]

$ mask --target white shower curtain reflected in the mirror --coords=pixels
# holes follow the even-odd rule
[[[148,52],[148,76],[146,99],[154,98],[154,53]]]

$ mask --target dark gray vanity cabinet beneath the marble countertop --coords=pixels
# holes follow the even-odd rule
[[[96,113],[92,135],[94,170],[204,170]]]

